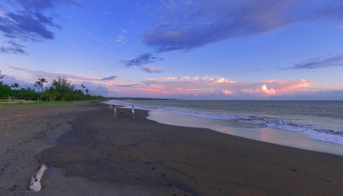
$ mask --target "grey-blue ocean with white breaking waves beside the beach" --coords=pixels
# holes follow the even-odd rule
[[[110,103],[271,127],[343,145],[343,101],[113,100]]]

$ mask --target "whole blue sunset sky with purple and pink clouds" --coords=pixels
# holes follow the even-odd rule
[[[343,100],[343,0],[0,0],[0,71],[104,97]]]

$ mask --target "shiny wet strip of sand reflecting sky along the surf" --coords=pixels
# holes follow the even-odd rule
[[[278,130],[269,127],[261,128],[256,125],[247,125],[246,123],[232,123],[214,119],[187,117],[180,114],[156,110],[148,111],[149,117],[147,117],[147,119],[166,125],[208,128],[216,132],[258,140],[265,143],[273,143],[276,145],[343,156],[343,145],[324,142],[322,140],[314,140],[305,134]]]

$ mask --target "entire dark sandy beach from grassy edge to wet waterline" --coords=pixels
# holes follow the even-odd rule
[[[343,156],[119,110],[0,107],[0,195],[343,195]],[[42,190],[29,191],[41,164]]]

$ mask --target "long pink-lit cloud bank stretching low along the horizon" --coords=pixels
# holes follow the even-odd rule
[[[13,69],[14,67],[12,67]],[[38,77],[44,77],[49,82],[55,75],[44,71],[32,71],[29,69],[17,70],[29,73],[29,79],[16,79],[12,75],[3,77],[4,84],[19,83],[23,88],[34,88],[34,82]],[[36,73],[36,75],[34,75]],[[222,82],[216,83],[220,76],[196,77],[165,77],[161,79],[146,79],[143,81],[103,82],[101,78],[80,77],[78,75],[66,75],[72,84],[80,88],[84,84],[91,95],[105,97],[159,97],[174,99],[274,99],[274,100],[342,100],[343,90],[329,88],[311,88],[315,81],[305,79],[277,80],[269,79],[260,82]],[[113,77],[113,76],[111,76]],[[183,79],[188,78],[189,79]],[[110,78],[110,77],[108,77]],[[204,79],[203,79],[204,78]],[[226,81],[230,79],[224,78]],[[30,81],[30,82],[26,82]],[[115,84],[115,85],[113,85]],[[49,86],[49,84],[46,84]]]

